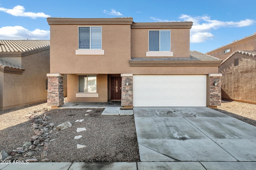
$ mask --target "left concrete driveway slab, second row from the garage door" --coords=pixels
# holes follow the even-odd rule
[[[194,125],[182,117],[136,117],[138,139],[207,139]]]

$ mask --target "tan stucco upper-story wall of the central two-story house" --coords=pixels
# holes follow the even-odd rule
[[[130,66],[131,57],[145,57],[148,30],[132,31],[130,25],[102,25],[102,49],[105,55],[76,55],[78,26],[51,25],[50,72],[58,74],[209,74],[218,67],[204,66]],[[97,25],[94,25],[97,26]],[[140,35],[140,32],[142,35]],[[184,33],[183,33],[184,32]],[[137,35],[141,37],[137,37]],[[144,38],[143,38],[144,37]],[[132,38],[132,42],[131,39]],[[133,40],[133,39],[141,40]],[[184,41],[183,41],[184,40]],[[175,41],[177,44],[175,44]],[[171,30],[171,50],[175,57],[189,56],[189,29]],[[131,45],[132,44],[132,45]],[[132,46],[132,48],[131,48]],[[132,52],[131,52],[132,51]],[[90,63],[90,64],[89,64]]]

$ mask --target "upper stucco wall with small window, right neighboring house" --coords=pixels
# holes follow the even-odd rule
[[[230,48],[230,53],[223,54],[223,51]],[[256,51],[256,34],[251,35],[249,37],[245,37],[244,39],[240,39],[238,41],[234,41],[231,44],[224,45],[218,49],[210,51],[206,54],[211,55],[213,57],[217,57],[224,61],[228,56],[230,56],[235,51],[244,51],[244,50],[252,50]]]

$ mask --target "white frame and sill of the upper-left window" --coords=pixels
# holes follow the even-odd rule
[[[90,28],[90,49],[79,49],[79,28],[89,27]],[[91,27],[101,27],[101,49],[91,49]],[[76,55],[104,55],[105,51],[102,50],[102,26],[78,26],[78,49]]]

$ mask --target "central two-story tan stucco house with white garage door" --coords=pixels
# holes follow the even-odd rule
[[[192,22],[133,18],[47,18],[48,106],[121,100],[124,108],[221,103],[220,59],[190,51]]]

